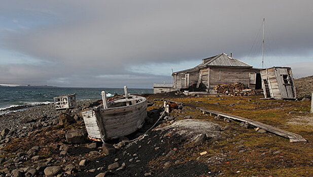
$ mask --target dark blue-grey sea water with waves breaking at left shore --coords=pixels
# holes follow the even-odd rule
[[[69,87],[34,87],[0,86],[1,110],[20,105],[40,105],[53,103],[53,97],[64,94],[76,94],[76,100],[101,99],[101,91],[110,94],[124,94],[124,89],[112,88],[69,88]],[[153,89],[128,89],[129,94],[151,94]]]

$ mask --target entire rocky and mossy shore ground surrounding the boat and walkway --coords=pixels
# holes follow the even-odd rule
[[[1,115],[0,176],[268,176],[279,175],[286,166],[295,169],[286,174],[313,174],[305,163],[311,156],[304,155],[313,140],[310,99],[175,92],[140,96],[148,99],[144,126],[106,143],[87,139],[81,115],[99,100],[78,101],[73,109],[56,110],[48,104]],[[157,121],[163,99],[179,106]],[[197,107],[290,130],[309,143],[292,144],[253,126],[202,114]]]

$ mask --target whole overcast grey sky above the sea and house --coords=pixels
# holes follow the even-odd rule
[[[313,1],[0,0],[0,83],[151,88],[220,53],[313,75]]]

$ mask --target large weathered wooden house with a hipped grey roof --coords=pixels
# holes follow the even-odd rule
[[[262,89],[260,69],[225,53],[202,59],[202,63],[194,68],[174,72],[172,76],[174,90],[215,93],[215,86],[235,82],[250,89]]]

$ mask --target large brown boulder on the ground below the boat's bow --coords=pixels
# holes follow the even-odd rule
[[[65,139],[66,139],[66,142],[70,144],[83,144],[83,143],[87,143],[86,136],[87,136],[87,133],[85,130],[72,129],[66,132]]]

